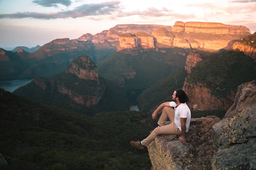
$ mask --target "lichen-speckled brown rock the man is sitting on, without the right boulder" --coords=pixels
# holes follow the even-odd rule
[[[178,135],[157,136],[147,147],[152,169],[210,169],[214,155],[210,129],[219,121],[215,116],[192,118],[185,143]]]

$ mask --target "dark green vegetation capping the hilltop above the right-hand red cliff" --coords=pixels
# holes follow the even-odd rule
[[[255,78],[256,63],[238,51],[223,51],[206,57],[187,76],[188,82],[202,83],[221,98]]]

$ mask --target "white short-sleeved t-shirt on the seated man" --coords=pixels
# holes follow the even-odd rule
[[[178,107],[176,107],[175,102],[170,102],[170,107],[174,107],[175,110],[175,116],[174,116],[174,123],[177,125],[179,130],[181,131],[181,123],[180,123],[180,117],[187,118],[186,119],[186,132],[188,132],[188,128],[190,125],[191,120],[191,112],[188,108],[186,103],[181,103]]]

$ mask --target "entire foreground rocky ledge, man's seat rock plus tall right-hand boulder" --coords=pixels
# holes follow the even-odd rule
[[[225,118],[192,118],[185,143],[160,135],[148,145],[152,169],[255,169],[256,80],[239,86]]]

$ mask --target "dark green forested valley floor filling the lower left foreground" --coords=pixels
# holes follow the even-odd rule
[[[150,169],[146,150],[130,140],[152,130],[142,112],[89,117],[32,103],[0,90],[0,149],[4,169]]]

